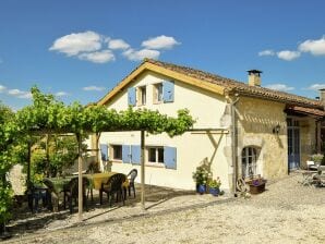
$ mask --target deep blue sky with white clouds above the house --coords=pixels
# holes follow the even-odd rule
[[[142,58],[314,98],[325,87],[325,1],[1,0],[0,100],[20,109],[37,85],[97,101]]]

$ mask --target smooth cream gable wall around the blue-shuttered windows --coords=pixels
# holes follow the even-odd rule
[[[191,85],[174,81],[174,101],[168,103],[155,105],[153,97],[153,85],[168,80],[161,75],[146,72],[130,84],[131,86],[147,86],[146,106],[136,106],[137,108],[147,108],[158,110],[160,113],[176,115],[179,109],[189,109],[191,115],[196,120],[194,127],[220,127],[220,118],[225,111],[225,98],[212,94]],[[125,110],[128,108],[128,88],[124,88],[110,103],[108,108]],[[157,166],[146,166],[145,182],[154,185],[193,190],[195,184],[192,179],[192,172],[203,160],[208,160],[212,164],[214,176],[220,176],[221,187],[229,188],[228,182],[228,162],[224,154],[224,147],[227,144],[227,134],[206,132],[186,132],[182,136],[173,138],[165,133],[161,135],[147,135],[146,145],[152,146],[171,146],[177,148],[177,170],[165,169]],[[116,132],[103,133],[100,144],[124,144],[140,145],[139,132]],[[228,141],[229,144],[229,141]],[[112,162],[112,171],[128,173],[132,168],[140,167],[130,163]],[[137,181],[141,176],[139,175]]]

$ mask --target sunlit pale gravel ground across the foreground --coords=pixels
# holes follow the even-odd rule
[[[157,205],[159,210],[152,207],[144,216],[128,216],[123,207],[119,208],[125,213],[120,213],[121,218],[101,215],[100,220],[86,225],[47,230],[7,242],[324,244],[325,187],[302,186],[299,181],[301,175],[293,174],[267,183],[266,192],[250,198],[178,196]],[[186,197],[205,200],[184,206]]]

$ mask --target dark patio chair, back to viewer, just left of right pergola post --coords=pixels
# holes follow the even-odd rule
[[[123,182],[125,182],[125,180],[127,180],[125,174],[116,173],[108,179],[107,183],[101,183],[101,186],[99,190],[100,205],[103,204],[103,193],[107,194],[109,206],[111,206],[111,202],[115,194],[117,194],[117,199],[119,199],[119,197],[122,198],[123,205],[124,205],[125,203],[124,203],[124,194],[123,194]]]

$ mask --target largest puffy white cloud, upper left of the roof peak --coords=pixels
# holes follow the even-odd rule
[[[101,37],[95,32],[72,33],[55,40],[50,51],[76,56],[81,52],[97,51],[101,48]]]

